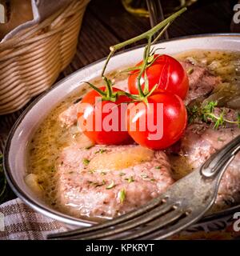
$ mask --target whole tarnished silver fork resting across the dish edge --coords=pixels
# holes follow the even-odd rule
[[[108,222],[50,234],[50,239],[163,239],[197,222],[214,204],[227,166],[240,150],[240,135],[166,193]]]

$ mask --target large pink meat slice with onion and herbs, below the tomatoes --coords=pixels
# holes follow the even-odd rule
[[[149,202],[173,182],[162,151],[142,146],[66,147],[56,166],[58,204],[76,217],[112,218]]]

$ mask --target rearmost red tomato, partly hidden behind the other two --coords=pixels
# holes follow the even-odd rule
[[[154,58],[156,57],[158,58],[154,63],[146,69],[149,90],[158,84],[158,89],[177,94],[180,98],[185,99],[189,89],[189,81],[186,71],[183,69],[180,62],[168,55],[155,54]],[[142,62],[137,64],[137,66],[140,65],[142,65]],[[131,94],[138,94],[138,73],[139,70],[131,71],[128,78],[128,88]],[[143,90],[143,75],[141,80]]]

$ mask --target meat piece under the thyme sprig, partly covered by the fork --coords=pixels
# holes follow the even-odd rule
[[[235,115],[234,110],[228,110],[227,118],[234,118]],[[226,146],[238,135],[240,135],[240,129],[234,125],[221,127],[218,130],[214,129],[213,124],[201,122],[188,126],[178,151],[178,155],[184,158],[184,168],[191,171],[201,166],[211,154]],[[223,175],[217,198],[217,204],[221,207],[236,202],[240,202],[240,154],[236,156]]]

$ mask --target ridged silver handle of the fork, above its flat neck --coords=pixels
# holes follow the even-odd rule
[[[240,150],[240,135],[229,142],[222,150],[213,154],[201,167],[201,174],[206,178],[222,175],[230,162],[234,160]]]

